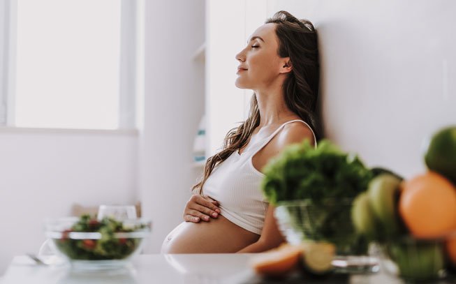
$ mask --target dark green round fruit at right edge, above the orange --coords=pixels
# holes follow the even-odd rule
[[[456,185],[456,126],[442,128],[432,135],[425,149],[425,163]]]

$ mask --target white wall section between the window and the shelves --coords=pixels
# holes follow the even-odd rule
[[[204,70],[192,55],[204,42],[203,0],[145,3],[145,121],[140,133],[140,196],[152,219],[146,251],[158,253],[182,221],[196,181],[193,138],[204,112]]]

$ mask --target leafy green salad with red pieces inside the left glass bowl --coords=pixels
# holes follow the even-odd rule
[[[54,239],[54,244],[71,260],[122,260],[130,256],[143,239],[128,233],[147,231],[147,227],[145,224],[132,226],[108,217],[98,221],[83,215],[71,228],[64,230],[59,239]],[[85,238],[84,233],[99,234]]]

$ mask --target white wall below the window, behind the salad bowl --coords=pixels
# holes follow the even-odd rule
[[[38,253],[45,218],[137,200],[135,131],[0,128],[0,275]]]

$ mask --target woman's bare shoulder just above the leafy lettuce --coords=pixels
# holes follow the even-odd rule
[[[279,149],[284,149],[290,144],[300,143],[304,139],[308,139],[311,145],[315,144],[314,133],[311,128],[300,121],[287,124],[277,136],[277,147]]]

